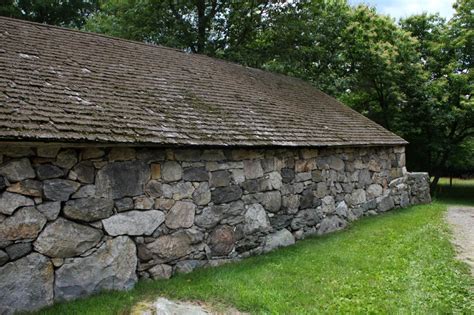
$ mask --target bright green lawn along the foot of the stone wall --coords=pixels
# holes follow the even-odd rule
[[[158,295],[255,314],[473,313],[473,279],[453,258],[445,209],[436,202],[365,218],[267,255],[40,313],[121,314]]]

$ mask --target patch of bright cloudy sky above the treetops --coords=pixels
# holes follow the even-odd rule
[[[454,13],[452,8],[454,0],[349,0],[349,2],[353,5],[365,3],[375,6],[379,13],[388,14],[396,19],[423,12],[439,13],[449,19]]]

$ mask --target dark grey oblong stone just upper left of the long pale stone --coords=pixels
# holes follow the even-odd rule
[[[68,218],[93,222],[113,214],[114,201],[105,198],[80,198],[66,202],[63,212]]]

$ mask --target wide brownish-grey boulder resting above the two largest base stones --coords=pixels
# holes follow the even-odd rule
[[[33,246],[43,255],[66,258],[84,253],[101,238],[102,232],[97,229],[59,218],[46,226]]]

